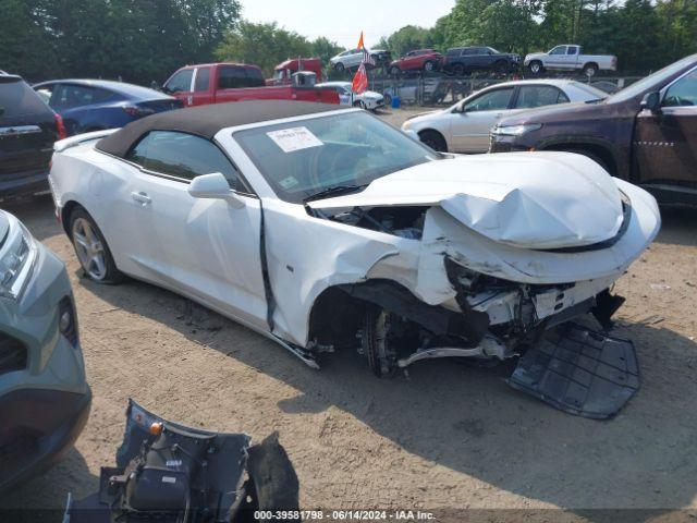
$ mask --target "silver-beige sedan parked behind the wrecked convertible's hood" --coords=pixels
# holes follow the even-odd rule
[[[448,109],[419,114],[404,122],[421,142],[445,153],[486,153],[489,132],[499,120],[526,109],[557,104],[589,102],[603,93],[573,80],[523,80],[486,87]]]

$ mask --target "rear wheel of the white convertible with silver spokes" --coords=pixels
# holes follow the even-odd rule
[[[89,251],[89,248],[78,240],[78,238],[81,236],[78,236],[77,234],[81,230],[83,232],[86,231],[84,229],[85,226],[89,227],[90,233],[84,235],[81,234],[81,236],[83,239],[89,240],[90,235],[94,235],[94,240],[98,242],[100,244],[99,246],[101,247],[101,250],[99,251],[99,255],[102,256],[102,267],[99,267],[99,270],[97,270],[99,264],[95,263],[94,258],[91,263],[88,263],[87,259],[89,256],[86,256],[85,252]],[[69,217],[68,230],[70,231],[70,240],[73,244],[73,248],[75,250],[77,260],[80,262],[80,265],[82,266],[83,271],[87,278],[98,283],[105,283],[109,285],[121,283],[121,281],[123,281],[123,272],[121,272],[117,268],[117,264],[113,260],[113,256],[111,255],[111,250],[109,248],[107,240],[105,240],[101,230],[99,230],[99,227],[97,226],[97,223],[95,223],[95,220],[93,220],[91,216],[89,216],[89,214],[85,209],[83,209],[82,207],[76,207],[71,211]],[[91,243],[94,244],[96,242]],[[93,245],[91,247],[91,254],[94,256],[98,254],[98,250],[95,245]]]

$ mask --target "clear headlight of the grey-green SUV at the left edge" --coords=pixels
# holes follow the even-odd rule
[[[10,231],[0,255],[0,297],[10,300],[22,294],[38,252],[34,236],[22,223],[16,223],[19,230],[14,234]]]

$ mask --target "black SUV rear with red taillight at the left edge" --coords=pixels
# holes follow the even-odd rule
[[[61,118],[20,76],[0,74],[0,200],[48,191]]]

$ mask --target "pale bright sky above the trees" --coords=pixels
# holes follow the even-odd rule
[[[363,31],[366,47],[405,25],[432,27],[455,0],[241,0],[249,22],[278,22],[307,38],[326,36],[355,47]]]

